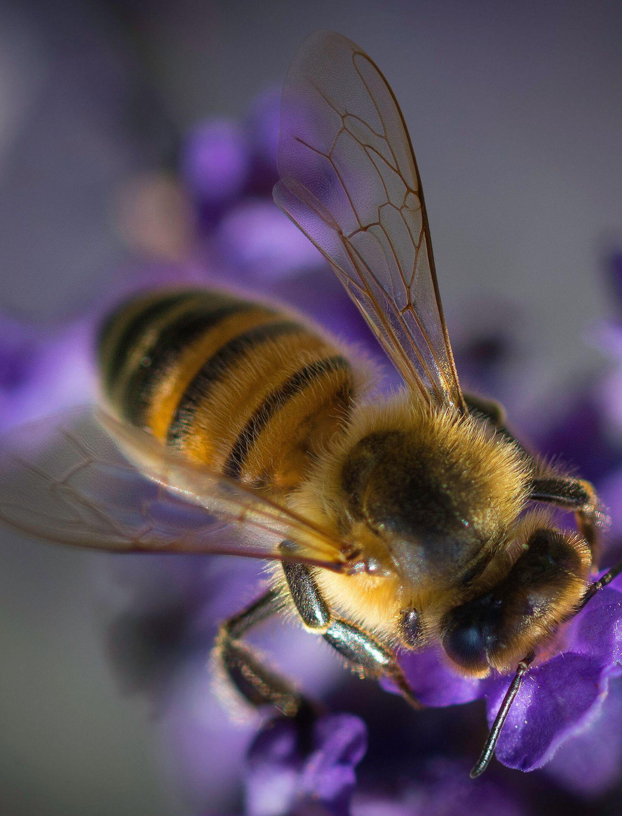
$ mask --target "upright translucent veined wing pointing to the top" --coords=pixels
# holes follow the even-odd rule
[[[407,384],[464,410],[402,112],[340,34],[312,34],[291,63],[278,171],[274,201],[327,258]]]

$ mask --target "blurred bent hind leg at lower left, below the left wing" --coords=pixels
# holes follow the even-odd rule
[[[242,612],[220,624],[215,657],[229,680],[248,703],[255,707],[270,704],[286,716],[302,716],[311,706],[293,686],[272,669],[264,666],[251,647],[240,640],[255,624],[282,609],[282,596],[269,589]]]

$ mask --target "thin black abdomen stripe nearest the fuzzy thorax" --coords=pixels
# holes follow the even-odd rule
[[[255,410],[242,432],[233,443],[229,458],[224,464],[224,473],[238,479],[242,472],[247,455],[255,444],[270,419],[281,410],[288,401],[304,392],[312,383],[318,383],[322,376],[339,370],[349,370],[350,364],[340,354],[316,360],[292,374],[279,388],[271,392]]]

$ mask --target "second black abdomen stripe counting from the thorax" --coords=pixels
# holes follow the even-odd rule
[[[167,432],[167,444],[178,446],[188,432],[198,407],[210,399],[214,385],[227,376],[230,366],[238,363],[253,351],[258,344],[277,339],[282,335],[295,334],[302,330],[295,321],[278,321],[255,326],[229,340],[213,354],[198,371],[186,388],[184,396],[175,410]]]

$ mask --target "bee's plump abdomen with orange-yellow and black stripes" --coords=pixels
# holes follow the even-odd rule
[[[209,290],[132,300],[100,335],[104,397],[163,443],[290,490],[344,424],[349,361],[295,315]]]

